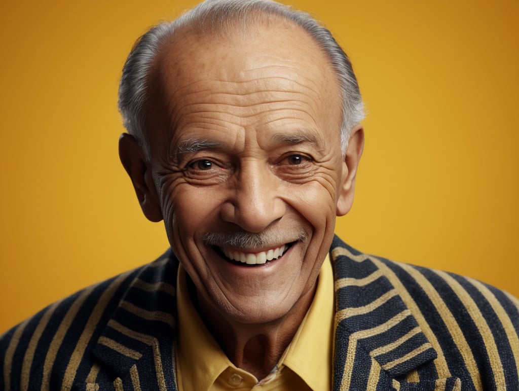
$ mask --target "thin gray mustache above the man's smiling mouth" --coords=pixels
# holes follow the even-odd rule
[[[233,248],[264,248],[270,245],[281,245],[296,240],[305,241],[307,234],[303,230],[280,232],[264,231],[260,233],[238,232],[224,234],[220,232],[207,233],[202,240],[209,246],[233,247]]]

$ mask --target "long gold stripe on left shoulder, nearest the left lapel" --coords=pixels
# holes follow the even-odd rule
[[[95,307],[88,318],[87,324],[79,336],[76,347],[74,348],[74,352],[72,352],[72,356],[69,359],[69,363],[66,366],[65,374],[63,376],[63,383],[61,383],[61,391],[69,391],[72,388],[74,378],[76,377],[77,368],[79,367],[81,359],[85,354],[85,350],[88,343],[90,342],[90,339],[92,338],[95,327],[98,325],[99,319],[101,319],[101,316],[103,315],[103,312],[112,299],[113,295],[122,284],[122,281],[124,281],[129,274],[130,272],[126,272],[114,279],[111,284],[104,290],[98,302],[95,304]]]

